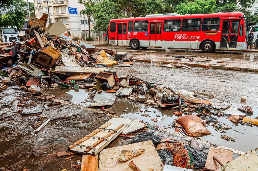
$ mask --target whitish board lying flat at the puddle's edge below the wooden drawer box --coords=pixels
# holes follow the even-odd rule
[[[115,100],[116,94],[107,93],[105,91],[102,91],[100,93],[99,91],[97,91],[93,98],[93,102],[88,107],[110,106],[115,103]]]

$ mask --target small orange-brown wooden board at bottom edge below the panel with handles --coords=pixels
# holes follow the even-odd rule
[[[83,155],[81,171],[98,171],[98,155]]]

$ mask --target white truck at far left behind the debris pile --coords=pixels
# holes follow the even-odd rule
[[[20,42],[19,29],[17,27],[2,28],[3,43]]]

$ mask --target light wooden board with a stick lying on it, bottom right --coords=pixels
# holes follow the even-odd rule
[[[215,171],[221,167],[220,164],[213,159],[213,156],[224,165],[227,164],[228,161],[233,160],[232,151],[210,147],[204,167],[206,170]]]

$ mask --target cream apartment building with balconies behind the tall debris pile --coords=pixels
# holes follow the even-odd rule
[[[61,19],[67,28],[64,34],[71,38],[84,38],[84,17],[80,13],[85,6],[78,3],[78,0],[34,0],[36,18],[40,18],[43,13],[49,13],[50,22]],[[70,14],[68,7],[77,8],[78,14]],[[47,25],[49,22],[47,22]],[[92,23],[88,24],[88,18],[85,16],[86,31],[92,30]],[[88,37],[88,32],[87,32]]]

